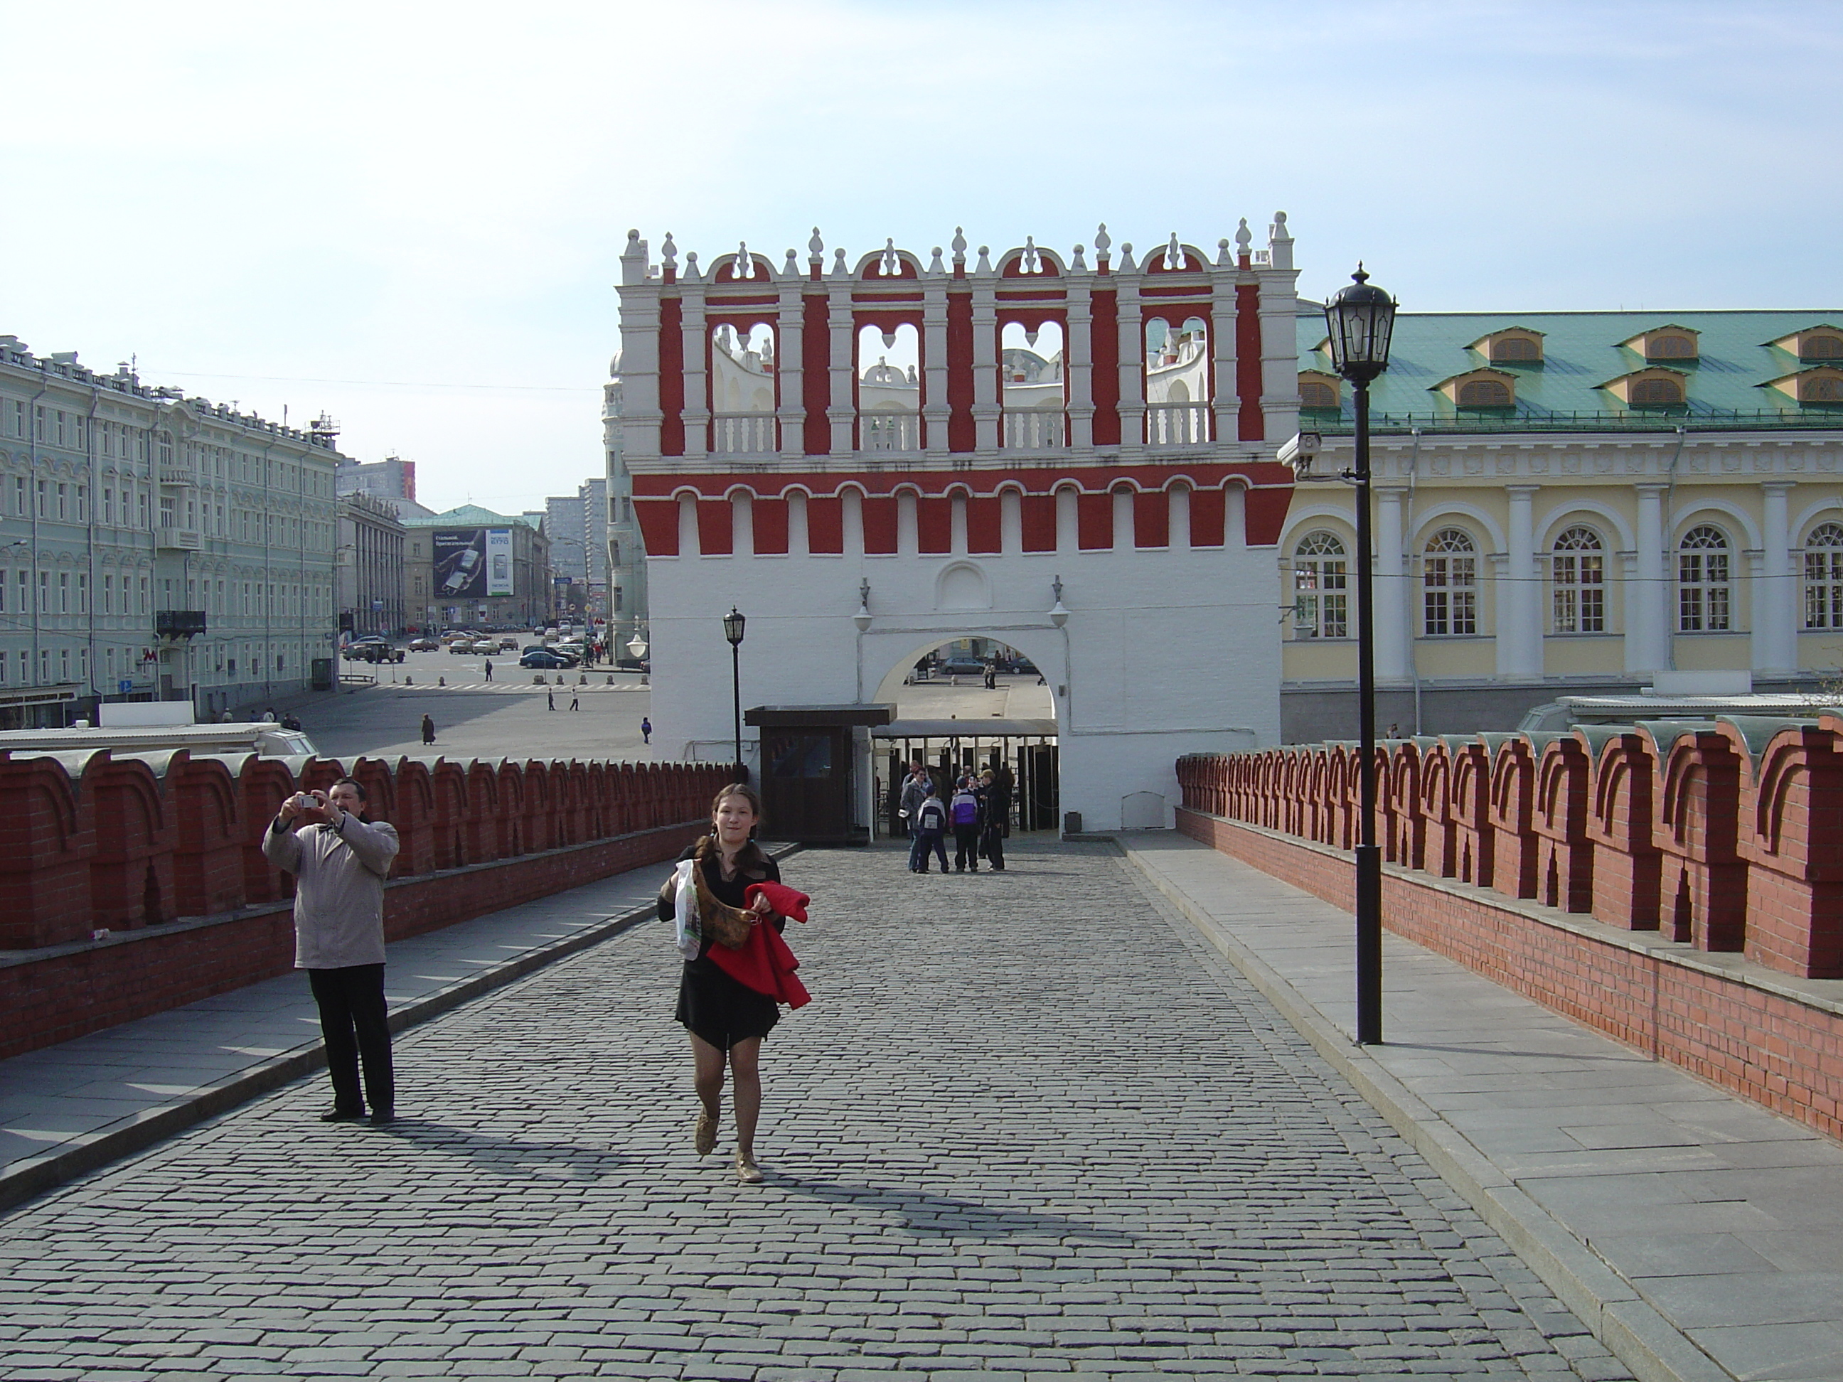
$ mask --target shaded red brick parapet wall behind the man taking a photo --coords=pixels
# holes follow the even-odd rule
[[[186,750],[0,759],[0,1058],[293,967],[293,881],[262,831],[339,776]],[[402,837],[385,886],[402,940],[675,857],[732,770],[361,757],[352,776]]]

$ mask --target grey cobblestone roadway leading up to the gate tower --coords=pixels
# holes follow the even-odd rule
[[[1109,846],[804,853],[759,1157],[641,929],[0,1220],[0,1376],[1627,1373]]]

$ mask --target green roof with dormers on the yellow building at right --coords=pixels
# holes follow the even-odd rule
[[[1773,380],[1812,369],[1790,350],[1769,345],[1793,332],[1832,322],[1836,308],[1812,311],[1428,311],[1395,317],[1388,372],[1369,387],[1369,420],[1377,431],[1670,431],[1843,427],[1843,405],[1797,404]],[[1487,359],[1467,346],[1493,332],[1520,326],[1543,334],[1541,361]],[[1646,361],[1620,343],[1662,326],[1697,332],[1697,359]],[[1321,311],[1297,319],[1299,369],[1331,370]],[[1823,361],[1832,363],[1832,361]],[[1843,363],[1843,361],[1836,361]],[[1515,407],[1456,407],[1436,391],[1443,380],[1474,369],[1513,374]],[[1600,385],[1642,369],[1686,374],[1688,402],[1679,407],[1629,407]],[[1340,413],[1307,409],[1301,426],[1349,431],[1351,389],[1340,387]]]

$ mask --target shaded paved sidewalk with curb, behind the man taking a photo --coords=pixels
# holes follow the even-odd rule
[[[391,1026],[437,1013],[652,916],[665,864],[391,945]],[[321,1069],[300,973],[0,1061],[0,1209]]]

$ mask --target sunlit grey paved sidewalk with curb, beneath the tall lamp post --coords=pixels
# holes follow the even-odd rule
[[[1843,1376],[1843,1148],[1170,833],[1128,859],[1640,1378]]]

